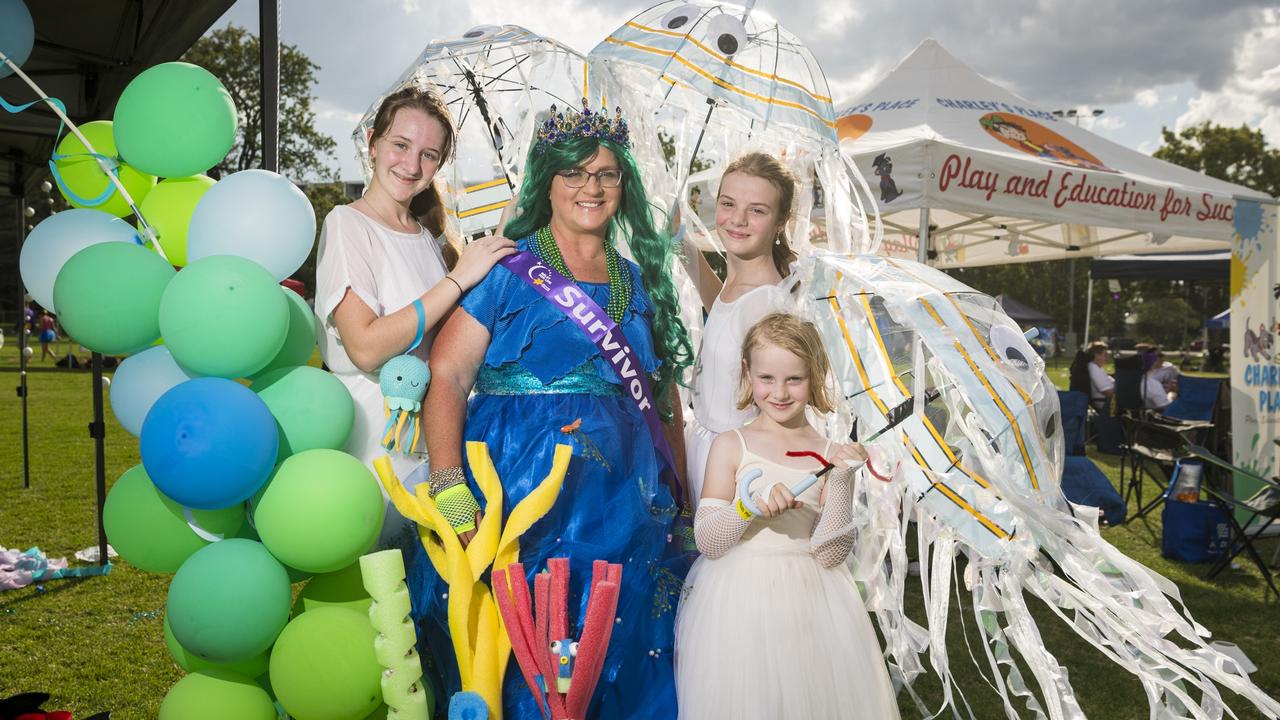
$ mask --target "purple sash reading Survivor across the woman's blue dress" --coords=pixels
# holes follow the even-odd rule
[[[602,310],[573,281],[559,274],[556,268],[548,266],[532,252],[520,251],[503,258],[498,264],[529,283],[529,287],[563,313],[575,327],[582,331],[582,334],[591,338],[591,342],[600,350],[600,355],[622,380],[623,395],[635,402],[640,415],[644,416],[645,424],[649,425],[649,434],[653,436],[654,447],[676,474],[676,492],[682,493],[680,473],[676,469],[671,446],[667,445],[667,436],[662,432],[662,421],[654,407],[649,379],[643,368],[632,364],[635,355],[631,351],[631,345],[627,343],[626,336],[622,334],[622,329],[613,322],[613,318]],[[623,270],[630,272],[627,268]],[[684,497],[675,500],[680,503],[684,502]]]

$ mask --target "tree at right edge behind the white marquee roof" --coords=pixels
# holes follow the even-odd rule
[[[1169,128],[1160,132],[1164,145],[1152,152],[1155,158],[1272,197],[1280,195],[1280,150],[1267,147],[1262,131],[1204,122],[1179,133]]]

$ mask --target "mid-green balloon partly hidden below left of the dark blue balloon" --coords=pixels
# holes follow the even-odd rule
[[[191,553],[211,542],[197,529],[214,537],[234,537],[246,524],[239,505],[189,510],[189,520],[186,512],[156,488],[142,465],[134,465],[111,486],[102,507],[102,527],[111,547],[129,564],[147,573],[177,573]]]

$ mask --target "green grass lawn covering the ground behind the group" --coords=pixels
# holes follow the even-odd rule
[[[92,418],[90,374],[54,370],[50,364],[32,368],[32,487],[23,489],[19,400],[12,389],[18,384],[17,365],[15,346],[9,343],[0,350],[0,437],[6,438],[0,448],[0,544],[19,550],[40,546],[50,556],[70,557],[97,542],[93,446],[86,430]],[[1065,374],[1065,364],[1051,368],[1060,387],[1066,384]],[[110,407],[106,415],[110,484],[138,462],[138,443],[115,423]],[[1117,459],[1093,457],[1115,482]],[[1272,696],[1280,694],[1275,638],[1280,606],[1274,598],[1270,605],[1265,602],[1265,584],[1252,565],[1207,582],[1202,578],[1204,566],[1164,560],[1158,514],[1148,524],[1103,529],[1103,537],[1178,583],[1196,619],[1216,638],[1239,644],[1260,667],[1253,680]],[[1263,542],[1266,557],[1275,551],[1275,542]],[[182,675],[161,637],[168,583],[168,577],[118,561],[104,578],[52,580],[42,591],[27,587],[0,593],[0,697],[44,691],[54,696],[47,708],[70,710],[76,717],[102,710],[111,710],[115,720],[155,717],[165,692]],[[909,610],[919,619],[923,612],[918,587],[910,592]],[[948,623],[951,666],[977,717],[1004,717],[997,696],[969,660],[964,629],[970,630],[973,652],[982,657],[982,650],[972,632],[969,597],[961,598],[963,607],[956,607],[952,598]],[[1070,670],[1070,682],[1089,717],[1147,717],[1147,702],[1134,678],[1079,641],[1038,601],[1028,600],[1046,646]],[[1025,667],[1023,674],[1033,683]],[[942,696],[936,676],[922,678],[916,689],[932,708],[938,707]],[[1233,698],[1225,696],[1240,717],[1261,717]],[[904,717],[919,717],[905,693],[901,701]],[[851,708],[850,717],[856,717],[856,708]]]

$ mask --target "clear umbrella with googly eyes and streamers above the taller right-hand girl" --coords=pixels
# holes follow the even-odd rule
[[[827,245],[872,250],[870,197],[856,168],[837,149],[835,109],[827,78],[813,53],[754,3],[691,4],[671,0],[635,15],[589,55],[596,76],[620,88],[621,104],[643,131],[667,140],[637,159],[649,165],[657,197],[678,205],[705,247],[719,168],[741,152],[760,150],[782,159],[801,183],[792,238],[799,245],[826,222]],[[652,127],[644,127],[645,124]],[[703,170],[703,172],[699,172]],[[859,193],[855,188],[861,188]],[[695,192],[696,190],[696,192]],[[870,210],[874,213],[874,209]]]

